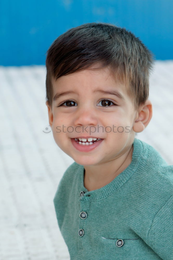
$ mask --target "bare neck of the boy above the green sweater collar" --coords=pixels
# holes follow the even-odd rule
[[[88,191],[97,190],[109,184],[131,163],[133,145],[121,157],[97,167],[84,166],[84,187]]]

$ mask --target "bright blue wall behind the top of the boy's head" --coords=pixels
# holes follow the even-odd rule
[[[0,65],[45,64],[46,51],[66,30],[107,22],[132,31],[155,54],[173,59],[171,0],[1,0]]]

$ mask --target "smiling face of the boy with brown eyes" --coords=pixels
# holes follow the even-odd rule
[[[132,127],[137,111],[127,87],[115,81],[109,67],[62,76],[52,84],[53,97],[74,92],[61,95],[52,109],[48,107],[55,142],[66,154],[81,165],[100,165],[128,151],[135,137]],[[119,92],[122,98],[103,91]],[[83,145],[75,141],[81,137],[102,140]]]

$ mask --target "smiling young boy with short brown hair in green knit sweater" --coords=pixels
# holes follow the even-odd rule
[[[131,32],[87,23],[46,57],[46,105],[74,163],[54,198],[70,259],[173,259],[173,167],[136,139],[152,117],[152,54]]]

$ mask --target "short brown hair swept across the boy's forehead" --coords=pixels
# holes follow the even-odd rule
[[[149,96],[153,54],[125,28],[108,23],[86,23],[69,29],[50,46],[46,57],[46,101],[52,107],[52,77],[56,80],[101,62],[128,85],[135,108]]]

